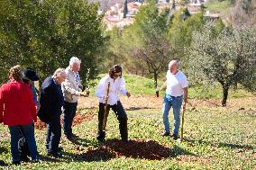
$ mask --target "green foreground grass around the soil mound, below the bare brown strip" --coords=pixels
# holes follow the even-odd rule
[[[254,108],[256,109],[256,108]],[[74,128],[79,134],[77,144],[61,140],[64,157],[52,159],[44,150],[44,130],[36,130],[40,164],[23,163],[19,169],[255,169],[256,168],[256,117],[249,112],[226,112],[221,110],[189,111],[186,115],[185,141],[179,144],[169,138],[160,137],[162,130],[160,110],[129,111],[129,133],[131,139],[156,141],[170,149],[169,157],[148,160],[134,157],[96,157],[88,161],[87,149],[101,149],[96,142],[96,116]],[[117,121],[110,112],[106,139],[120,139]],[[10,164],[9,134],[0,125],[0,159]],[[77,148],[82,149],[77,149]],[[154,147],[154,146],[152,146]],[[149,151],[151,153],[151,151]],[[98,155],[103,157],[106,153]],[[4,168],[4,167],[2,167]],[[14,166],[5,166],[14,169]]]

